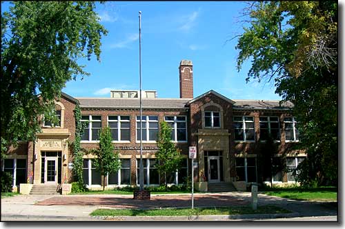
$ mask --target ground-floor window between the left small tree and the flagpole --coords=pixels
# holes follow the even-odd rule
[[[120,170],[108,175],[108,184],[130,185],[130,159],[121,159]]]

